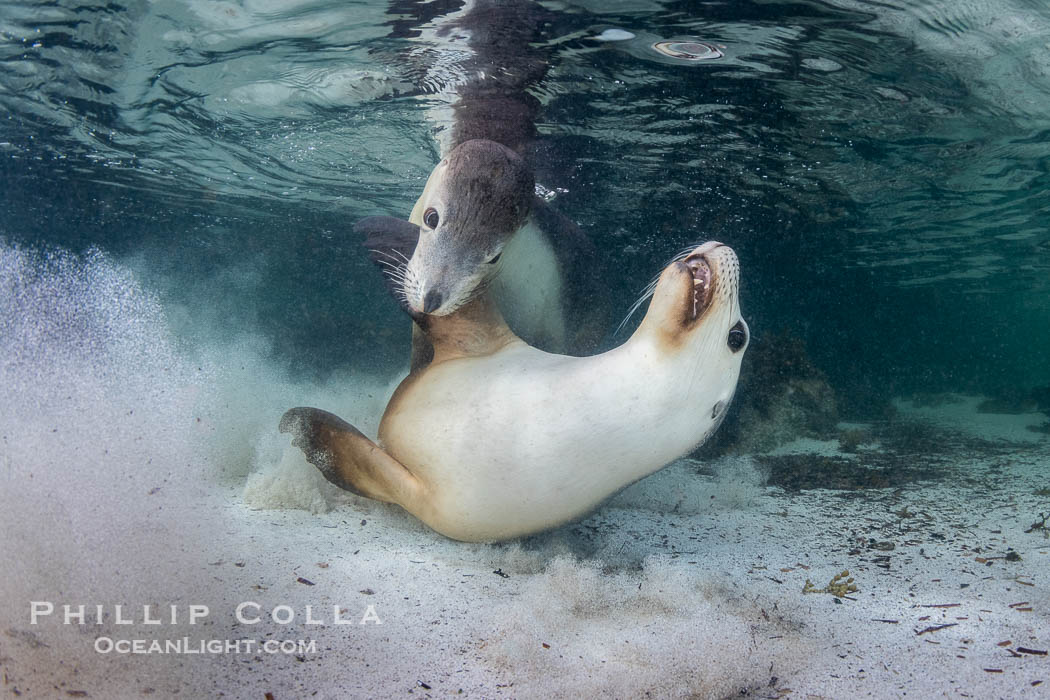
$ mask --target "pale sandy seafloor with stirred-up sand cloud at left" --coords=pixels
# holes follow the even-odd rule
[[[374,434],[396,378],[303,385],[257,340],[181,340],[176,310],[102,255],[4,248],[0,282],[4,696],[1050,694],[1050,538],[1032,529],[1050,513],[1050,439],[1028,429],[1044,415],[901,402],[915,449],[895,459],[914,479],[791,491],[764,485],[756,455],[681,461],[583,522],[465,545],[339,492],[276,433],[312,404]],[[887,449],[780,452],[861,470]],[[803,594],[844,570],[845,598]],[[32,601],[56,614],[30,624]],[[261,622],[235,622],[245,601]],[[63,604],[88,623],[63,624]],[[194,625],[191,604],[209,609]],[[177,622],[145,624],[143,606],[176,606]],[[292,622],[268,619],[280,606]],[[101,637],[315,648],[102,654]]]

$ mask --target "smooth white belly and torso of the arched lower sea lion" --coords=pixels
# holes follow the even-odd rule
[[[428,369],[380,438],[426,486],[421,519],[457,538],[513,536],[584,514],[699,442],[717,397],[680,384],[645,343],[584,359],[519,344]]]

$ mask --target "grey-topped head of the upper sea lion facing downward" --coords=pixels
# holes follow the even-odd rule
[[[453,149],[413,212],[420,230],[404,275],[410,310],[446,316],[484,290],[534,190],[531,170],[509,148],[478,139]]]

